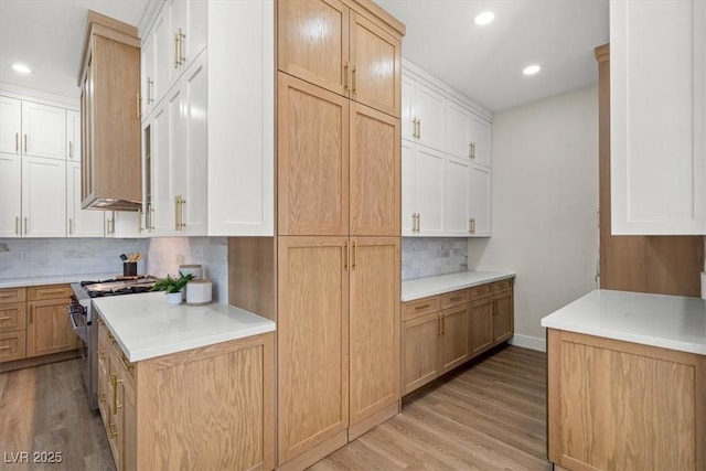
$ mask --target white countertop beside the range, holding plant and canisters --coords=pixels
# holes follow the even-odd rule
[[[168,304],[163,291],[93,302],[130,362],[275,331],[275,322],[233,306]]]

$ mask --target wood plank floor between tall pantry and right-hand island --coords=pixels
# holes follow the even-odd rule
[[[546,354],[513,345],[413,393],[399,415],[310,468],[550,469]]]

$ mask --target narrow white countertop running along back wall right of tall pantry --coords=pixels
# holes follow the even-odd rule
[[[427,296],[441,295],[442,292],[471,288],[514,277],[515,274],[500,271],[462,271],[460,274],[405,280],[402,282],[402,300],[414,301]]]

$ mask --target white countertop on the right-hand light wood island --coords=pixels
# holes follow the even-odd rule
[[[542,327],[706,355],[700,298],[600,289],[542,319]]]

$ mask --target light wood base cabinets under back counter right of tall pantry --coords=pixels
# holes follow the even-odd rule
[[[513,335],[513,281],[403,302],[402,311],[405,395]]]

